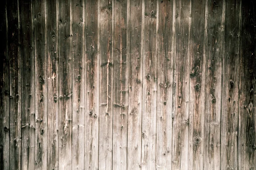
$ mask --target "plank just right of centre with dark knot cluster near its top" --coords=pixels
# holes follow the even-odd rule
[[[156,169],[157,137],[157,1],[144,1],[142,169]]]

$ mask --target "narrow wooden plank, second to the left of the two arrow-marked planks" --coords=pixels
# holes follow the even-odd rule
[[[72,169],[84,169],[84,17],[83,2],[73,0],[72,4],[73,35],[73,134],[72,134]]]

